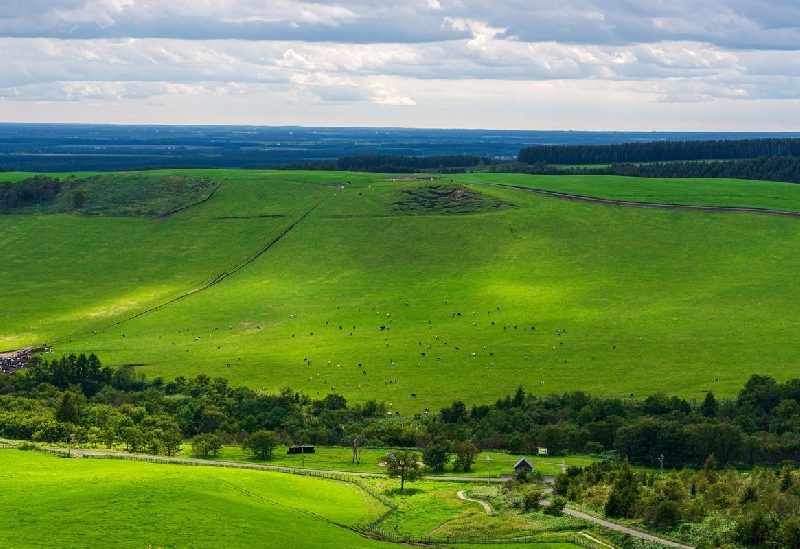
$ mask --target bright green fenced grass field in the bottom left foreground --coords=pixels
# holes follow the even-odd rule
[[[384,508],[281,473],[0,450],[6,547],[385,547],[350,527]]]

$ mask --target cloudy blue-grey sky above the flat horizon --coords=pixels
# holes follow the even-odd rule
[[[0,121],[800,131],[800,1],[0,0]]]

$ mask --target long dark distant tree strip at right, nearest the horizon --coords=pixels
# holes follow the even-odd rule
[[[523,164],[581,165],[800,156],[800,139],[652,141],[617,145],[537,145],[519,151]]]

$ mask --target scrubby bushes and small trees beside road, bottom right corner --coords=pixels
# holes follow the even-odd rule
[[[627,460],[570,467],[554,493],[613,519],[641,521],[698,548],[800,547],[800,474],[793,463],[747,474],[718,469],[635,471]]]

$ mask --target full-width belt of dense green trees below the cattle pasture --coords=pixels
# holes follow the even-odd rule
[[[278,443],[421,448],[441,470],[469,471],[479,448],[533,454],[628,457],[631,463],[701,467],[775,465],[800,456],[800,379],[752,376],[735,399],[702,402],[657,393],[644,400],[597,398],[577,391],[537,397],[520,387],[494,404],[456,401],[438,413],[389,416],[375,400],[349,404],[282,389],[264,393],[198,375],[148,381],[132,367],[109,368],[95,355],[45,360],[0,376],[0,433],[24,440],[123,443],[170,453],[175,440],[214,435],[243,443],[259,431]],[[202,446],[202,445],[201,445]],[[258,452],[256,452],[258,453]]]

